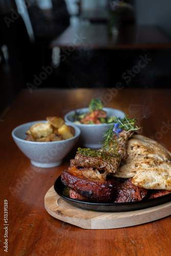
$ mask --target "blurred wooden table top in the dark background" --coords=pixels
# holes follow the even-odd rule
[[[119,34],[110,37],[107,25],[87,24],[68,27],[50,47],[90,49],[170,49],[169,39],[155,26],[121,26]]]

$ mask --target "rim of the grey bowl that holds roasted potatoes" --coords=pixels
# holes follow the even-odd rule
[[[70,123],[65,122],[65,124],[72,126],[72,127],[75,129],[75,131],[78,133],[77,135],[74,135],[74,137],[72,137],[72,138],[70,138],[70,139],[66,139],[66,140],[46,141],[46,142],[29,141],[29,140],[25,140],[25,139],[20,139],[20,138],[18,138],[18,137],[14,134],[15,131],[16,131],[18,128],[22,127],[23,125],[26,125],[26,124],[29,124],[29,123],[33,125],[34,123],[37,123],[37,122],[48,123],[47,120],[38,120],[38,121],[32,121],[32,122],[27,122],[27,123],[20,124],[20,125],[16,126],[16,127],[12,130],[12,133],[11,133],[11,134],[12,134],[12,137],[15,138],[15,139],[17,139],[17,140],[19,140],[19,141],[25,141],[26,143],[31,143],[31,144],[36,144],[36,145],[41,144],[41,145],[42,145],[42,144],[47,144],[47,143],[50,143],[50,144],[58,143],[58,144],[59,144],[59,143],[65,142],[65,141],[70,141],[70,140],[75,139],[76,137],[79,137],[79,135],[80,135],[80,133],[81,133],[79,127],[77,127],[77,126],[74,125],[74,124],[70,124]],[[31,127],[31,126],[30,126],[30,127]],[[26,131],[26,132],[27,132],[27,131]]]

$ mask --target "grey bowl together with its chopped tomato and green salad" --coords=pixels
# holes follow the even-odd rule
[[[101,148],[103,133],[106,132],[116,118],[123,119],[125,113],[112,108],[104,108],[100,99],[92,99],[89,108],[70,111],[65,121],[81,130],[81,144],[88,148]]]

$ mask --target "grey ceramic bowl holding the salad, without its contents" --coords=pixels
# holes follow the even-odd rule
[[[125,117],[125,113],[120,110],[117,110],[117,109],[103,108],[103,110],[107,112],[108,117],[116,116],[119,119],[123,119]],[[89,108],[78,109],[76,111],[80,114],[88,113]],[[101,148],[102,143],[99,143],[99,142],[104,139],[103,133],[109,129],[110,124],[106,124],[106,123],[101,123],[101,124],[74,123],[73,114],[75,114],[75,110],[67,113],[65,115],[64,119],[70,125],[74,124],[81,130],[80,139],[81,139],[82,145],[85,147],[94,148],[94,149]]]

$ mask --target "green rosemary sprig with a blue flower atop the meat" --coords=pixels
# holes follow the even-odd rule
[[[103,137],[105,138],[100,143],[104,143],[103,145],[104,147],[109,146],[110,142],[114,142],[114,143],[116,142],[114,140],[114,130],[115,130],[114,127],[116,126],[116,123],[117,123],[117,129],[126,130],[126,133],[130,131],[137,131],[142,128],[135,125],[136,117],[134,119],[130,119],[127,115],[123,118],[123,120],[117,117],[114,117],[114,121],[111,124],[111,127],[108,129],[108,131],[103,133]]]

